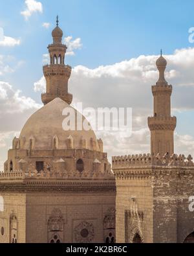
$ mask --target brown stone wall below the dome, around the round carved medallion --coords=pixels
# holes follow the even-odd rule
[[[27,242],[49,242],[48,220],[54,209],[64,220],[62,242],[104,242],[103,219],[111,207],[115,195],[110,192],[28,194]],[[89,234],[81,237],[84,228]]]

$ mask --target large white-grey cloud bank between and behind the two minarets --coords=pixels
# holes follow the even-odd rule
[[[82,65],[72,69],[69,91],[73,95],[73,104],[80,101],[83,102],[83,107],[133,108],[131,137],[123,138],[116,133],[97,132],[98,137],[102,137],[105,152],[108,152],[109,156],[150,152],[147,116],[153,113],[151,86],[158,79],[156,58],[158,56],[142,55],[95,69]],[[194,48],[177,50],[165,58],[166,80],[173,85],[172,110],[194,111]],[[34,84],[34,89],[45,91],[44,77]],[[175,152],[178,154],[194,155],[193,145],[193,137],[175,134]]]

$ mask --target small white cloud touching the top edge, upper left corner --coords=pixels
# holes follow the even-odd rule
[[[21,12],[21,15],[27,20],[34,12],[43,12],[43,5],[41,2],[35,0],[25,0],[27,8]]]

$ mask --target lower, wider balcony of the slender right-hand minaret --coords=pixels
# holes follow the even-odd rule
[[[148,117],[149,130],[175,130],[177,117]]]

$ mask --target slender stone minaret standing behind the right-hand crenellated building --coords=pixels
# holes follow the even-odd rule
[[[161,56],[156,60],[156,66],[159,71],[159,79],[155,86],[152,86],[154,97],[153,117],[148,117],[148,126],[151,131],[151,155],[160,156],[168,153],[169,156],[174,153],[174,131],[177,125],[177,118],[171,117],[171,93],[173,87],[168,85],[164,71],[167,62]]]

